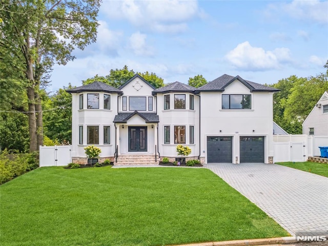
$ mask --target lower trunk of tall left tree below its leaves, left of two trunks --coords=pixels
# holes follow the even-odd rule
[[[27,96],[29,99],[29,133],[30,133],[30,153],[37,151],[36,140],[36,115],[35,115],[35,93],[34,88],[27,89]]]

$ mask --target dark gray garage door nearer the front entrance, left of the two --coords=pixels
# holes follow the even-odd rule
[[[207,137],[207,162],[232,162],[232,137]]]

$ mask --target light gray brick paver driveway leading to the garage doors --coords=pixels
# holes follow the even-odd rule
[[[328,178],[264,163],[205,165],[295,236],[328,231]]]

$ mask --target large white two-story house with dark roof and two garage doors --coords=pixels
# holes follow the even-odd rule
[[[194,88],[175,82],[155,89],[140,75],[119,89],[104,83],[67,90],[72,100],[72,159],[84,148],[100,159],[157,163],[179,157],[210,162],[273,162],[273,93],[279,90],[224,74]]]

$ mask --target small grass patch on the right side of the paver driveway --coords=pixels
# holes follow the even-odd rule
[[[328,177],[327,163],[305,161],[305,162],[278,162],[276,164]]]

